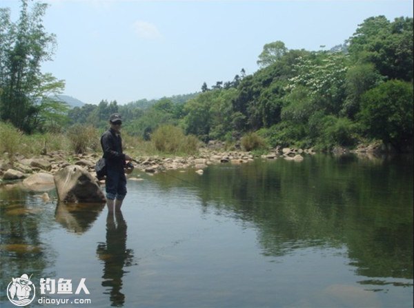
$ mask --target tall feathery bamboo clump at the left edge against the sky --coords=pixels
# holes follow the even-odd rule
[[[10,10],[0,8],[0,119],[32,132],[39,119],[58,114],[63,106],[52,105],[48,94],[60,93],[63,81],[41,73],[41,63],[51,59],[55,35],[45,32],[42,19],[48,7],[21,0],[19,21],[10,20]],[[41,114],[41,115],[39,115]]]

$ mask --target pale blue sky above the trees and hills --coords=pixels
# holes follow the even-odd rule
[[[57,35],[53,61],[64,94],[119,104],[197,92],[257,69],[266,43],[319,50],[343,43],[372,16],[413,17],[411,0],[48,0],[43,24]],[[16,20],[17,0],[0,0]]]

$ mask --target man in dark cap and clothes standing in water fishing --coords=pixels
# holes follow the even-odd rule
[[[106,200],[108,211],[113,212],[114,206],[115,211],[121,209],[126,196],[124,167],[126,161],[132,161],[132,158],[122,152],[121,116],[117,113],[111,114],[109,123],[109,130],[101,136],[101,146],[106,165]]]

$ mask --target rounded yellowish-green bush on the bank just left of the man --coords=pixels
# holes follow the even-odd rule
[[[75,154],[83,154],[86,150],[91,148],[97,150],[100,144],[100,138],[98,130],[92,126],[84,126],[81,124],[75,124],[68,129],[66,136],[70,141],[71,150]]]

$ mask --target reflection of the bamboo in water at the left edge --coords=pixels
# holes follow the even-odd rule
[[[53,193],[50,193],[53,195]],[[43,202],[39,192],[20,184],[0,187],[0,300],[7,300],[6,287],[23,273],[39,276],[55,263],[55,250],[43,241],[50,229],[55,205]]]

